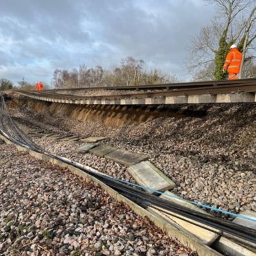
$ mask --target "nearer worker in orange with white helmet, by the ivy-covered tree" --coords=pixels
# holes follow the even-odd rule
[[[223,72],[228,71],[228,80],[238,80],[238,74],[242,65],[242,54],[239,52],[237,45],[231,45]]]

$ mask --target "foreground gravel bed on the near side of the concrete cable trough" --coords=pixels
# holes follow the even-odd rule
[[[1,255],[194,255],[93,182],[0,145]]]

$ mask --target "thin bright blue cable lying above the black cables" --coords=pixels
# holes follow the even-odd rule
[[[109,176],[109,175],[107,175],[107,176]],[[109,176],[109,177],[111,177],[111,176]],[[158,193],[160,195],[165,195],[167,197],[172,197],[172,198],[180,199],[180,200],[183,200],[185,202],[189,202],[191,204],[195,204],[196,206],[201,206],[201,207],[204,207],[204,208],[207,208],[207,209],[211,209],[212,211],[219,211],[220,213],[225,213],[225,214],[231,215],[233,217],[238,217],[240,219],[250,220],[250,221],[256,222],[255,218],[250,218],[250,217],[247,217],[245,215],[241,215],[241,214],[237,214],[237,213],[231,213],[231,211],[225,211],[224,209],[219,209],[219,208],[216,208],[216,207],[213,207],[213,206],[207,206],[206,204],[202,204],[201,202],[195,202],[195,201],[186,200],[186,199],[178,197],[178,196],[170,195],[170,194],[167,194],[167,193],[155,190],[155,189],[151,189],[150,187],[145,187],[145,186],[141,186],[141,185],[138,185],[138,184],[134,184],[132,182],[127,182],[126,180],[120,180],[119,178],[114,178],[114,177],[111,177],[111,178],[113,180],[118,180],[120,182],[129,184],[129,185],[132,185],[132,186],[135,186],[135,187],[140,187],[140,188],[145,189],[147,191]]]

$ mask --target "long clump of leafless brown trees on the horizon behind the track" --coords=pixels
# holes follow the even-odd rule
[[[120,65],[112,70],[104,70],[101,66],[69,70],[54,70],[52,79],[55,88],[71,87],[99,87],[114,85],[140,85],[153,83],[171,83],[177,79],[160,70],[146,70],[142,59],[127,57],[120,61]]]

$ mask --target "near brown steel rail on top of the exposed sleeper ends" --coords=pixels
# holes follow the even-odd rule
[[[170,91],[160,92],[136,92],[133,94],[112,94],[112,95],[98,95],[98,96],[74,96],[70,94],[57,94],[51,92],[34,92],[34,91],[21,91],[16,92],[41,96],[45,98],[55,99],[70,99],[70,100],[120,100],[121,98],[158,98],[167,96],[189,96],[189,95],[202,95],[202,94],[226,94],[226,93],[240,93],[240,92],[256,92],[256,82],[221,85],[219,87],[200,87],[192,89],[173,89]]]

